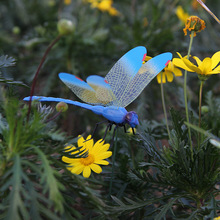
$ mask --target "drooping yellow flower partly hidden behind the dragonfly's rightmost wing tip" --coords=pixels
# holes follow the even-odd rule
[[[166,79],[168,82],[172,82],[174,75],[182,76],[182,71],[176,68],[173,65],[173,62],[170,61],[169,64],[164,68],[164,70],[157,75],[157,82],[161,83],[161,78],[162,78],[162,83],[166,83]]]

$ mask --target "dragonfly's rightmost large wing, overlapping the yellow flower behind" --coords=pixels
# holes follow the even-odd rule
[[[151,80],[166,67],[171,59],[171,53],[163,53],[143,64],[120,97],[120,106],[126,107],[134,101]]]

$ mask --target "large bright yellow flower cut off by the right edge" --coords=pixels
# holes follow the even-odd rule
[[[220,51],[216,52],[211,58],[206,57],[201,61],[198,57],[194,56],[193,59],[197,65],[189,61],[186,57],[174,58],[173,63],[177,67],[185,69],[189,72],[195,72],[198,74],[200,80],[206,80],[210,75],[220,73]]]

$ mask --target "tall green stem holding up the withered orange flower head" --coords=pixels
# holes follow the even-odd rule
[[[193,37],[194,37],[194,31],[191,32],[187,59],[189,59],[189,56],[190,56],[190,52],[191,52],[191,48],[192,48],[192,42],[193,42]],[[185,100],[186,120],[189,123],[189,112],[188,112],[188,104],[187,104],[187,92],[186,92],[187,88],[186,88],[186,84],[187,84],[187,70],[185,70],[185,76],[184,76],[184,100]],[[191,159],[193,161],[193,146],[192,146],[192,139],[191,139],[191,131],[190,131],[189,127],[188,127],[188,135],[189,135],[189,143],[190,143],[190,148],[191,148]]]

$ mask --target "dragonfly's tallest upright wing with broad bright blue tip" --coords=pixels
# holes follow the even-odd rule
[[[113,104],[122,106],[121,97],[127,90],[131,80],[142,66],[142,62],[146,56],[146,48],[139,46],[128,51],[122,56],[106,75],[105,80],[111,87]]]

